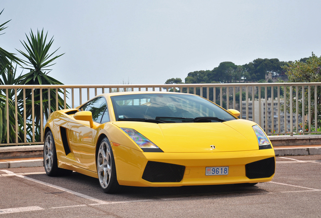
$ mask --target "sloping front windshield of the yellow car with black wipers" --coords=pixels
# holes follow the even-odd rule
[[[197,95],[151,93],[111,96],[118,121],[154,123],[235,120],[218,105]]]

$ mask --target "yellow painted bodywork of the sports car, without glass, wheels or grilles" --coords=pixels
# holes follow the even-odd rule
[[[272,180],[274,175],[259,179],[246,177],[247,163],[275,158],[273,147],[258,148],[252,128],[256,125],[254,122],[240,119],[215,123],[116,121],[110,98],[113,95],[117,93],[102,95],[108,105],[110,122],[90,124],[86,120],[77,120],[74,118],[74,112],[79,107],[54,112],[48,118],[45,133],[51,131],[55,138],[59,168],[97,178],[96,148],[99,146],[99,139],[107,137],[112,144],[117,181],[120,185],[214,185]],[[164,152],[143,152],[121,128],[136,130]],[[148,182],[142,179],[148,161],[185,166],[183,179],[180,182]],[[229,174],[206,176],[206,167],[229,167]]]

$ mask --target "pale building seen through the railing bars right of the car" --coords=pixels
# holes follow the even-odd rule
[[[259,103],[261,111],[259,111]],[[273,101],[269,98],[266,101],[265,99],[254,100],[254,119],[253,119],[253,105],[252,101],[248,100],[248,119],[257,123],[266,133],[285,133],[290,132],[291,128],[291,119],[293,129],[296,127],[297,116],[295,113],[292,113],[292,118],[290,113],[286,113],[284,115],[283,111],[278,111],[279,102],[278,99]],[[284,99],[280,99],[280,105],[284,104]],[[265,114],[266,113],[266,114]],[[242,101],[242,119],[246,119],[246,101]],[[266,117],[265,117],[266,116]],[[280,117],[280,118],[279,118]],[[266,119],[265,119],[266,118]],[[302,116],[298,116],[298,124],[302,123]],[[298,125],[298,129],[300,130],[300,125]]]

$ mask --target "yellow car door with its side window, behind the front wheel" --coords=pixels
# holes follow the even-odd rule
[[[101,123],[102,117],[104,117],[103,120],[106,120],[103,116],[105,110],[106,100],[104,97],[94,98],[79,108],[79,111],[90,111],[92,113],[95,126]],[[89,122],[75,119],[68,122],[70,146],[77,161],[75,164],[90,171],[96,171],[95,152],[98,133],[95,126],[90,128]]]

